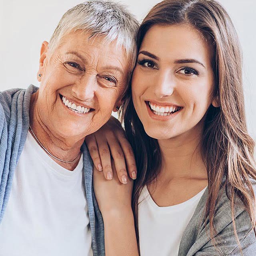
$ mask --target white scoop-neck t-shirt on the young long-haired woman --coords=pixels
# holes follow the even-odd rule
[[[141,256],[177,256],[180,241],[200,198],[200,191],[186,202],[159,207],[145,186],[139,197],[138,229]]]

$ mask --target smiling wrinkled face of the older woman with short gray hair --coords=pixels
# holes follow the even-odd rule
[[[40,121],[61,138],[84,138],[110,118],[128,82],[128,60],[116,42],[76,32],[53,52],[44,42],[37,106]]]

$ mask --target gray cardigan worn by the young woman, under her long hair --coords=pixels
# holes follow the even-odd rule
[[[255,182],[254,182],[255,193]],[[219,241],[218,252],[213,246],[209,237],[209,220],[206,220],[204,226],[204,207],[208,196],[208,188],[206,188],[198,206],[192,216],[185,232],[182,236],[178,256],[239,256],[240,250],[234,236],[232,225],[232,215],[230,200],[225,190],[220,194],[220,201],[214,217],[214,225],[216,233],[221,240]],[[251,229],[251,222],[248,213],[242,206],[235,208],[235,222],[240,246],[244,256],[256,256],[256,237],[254,230]]]

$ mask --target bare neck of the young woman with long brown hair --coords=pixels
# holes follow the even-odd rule
[[[162,154],[160,176],[165,180],[207,179],[201,155],[202,132],[196,130],[168,140],[158,140]]]

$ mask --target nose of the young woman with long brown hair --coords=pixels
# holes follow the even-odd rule
[[[158,98],[170,96],[174,92],[174,84],[174,76],[172,76],[170,70],[163,70],[158,73],[154,81],[154,94]]]

